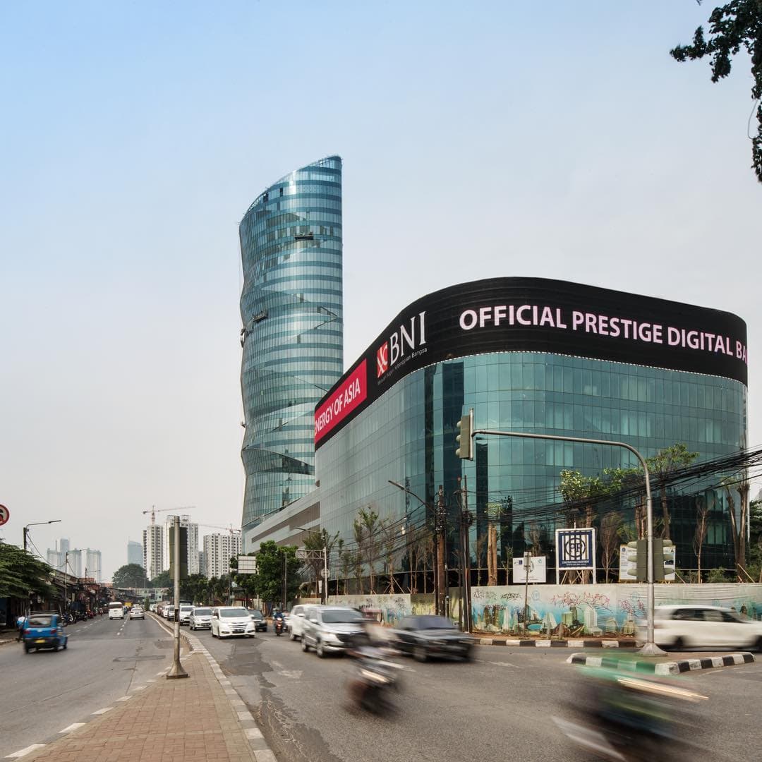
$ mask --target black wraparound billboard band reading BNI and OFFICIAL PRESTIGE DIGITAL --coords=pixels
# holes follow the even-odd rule
[[[422,296],[397,315],[315,408],[315,447],[408,373],[490,352],[567,354],[748,381],[746,324],[730,312],[562,280],[475,280]]]

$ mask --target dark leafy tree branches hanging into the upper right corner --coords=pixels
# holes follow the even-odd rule
[[[693,33],[692,45],[678,45],[670,55],[680,62],[711,56],[712,82],[719,82],[730,74],[731,59],[742,48],[751,56],[751,98],[757,104],[751,166],[762,182],[762,0],[733,0],[715,8],[709,15],[709,40],[699,27]]]

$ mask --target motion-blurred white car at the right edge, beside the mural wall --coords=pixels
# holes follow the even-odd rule
[[[645,622],[637,639],[645,640]],[[657,606],[654,641],[663,648],[744,648],[762,651],[762,622],[719,606]]]

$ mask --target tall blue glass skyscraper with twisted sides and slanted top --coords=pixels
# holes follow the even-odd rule
[[[341,158],[268,187],[239,237],[245,531],[315,486],[315,404],[343,371]]]

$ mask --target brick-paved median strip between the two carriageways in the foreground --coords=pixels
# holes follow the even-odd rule
[[[255,762],[247,730],[211,665],[199,652],[183,659],[190,677],[158,678],[129,701],[21,759],[56,762]],[[242,703],[242,702],[241,702]],[[251,735],[251,730],[248,730]],[[267,751],[267,754],[271,754]]]

